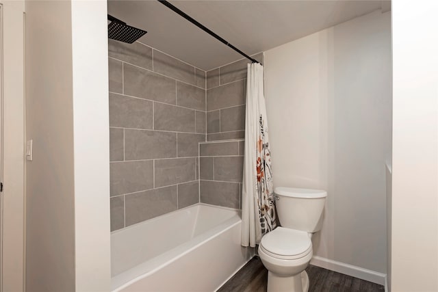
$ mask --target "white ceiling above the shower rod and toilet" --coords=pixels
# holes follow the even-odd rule
[[[248,55],[343,23],[389,1],[170,1]],[[140,42],[203,70],[242,56],[158,1],[108,1],[108,13],[148,33]]]

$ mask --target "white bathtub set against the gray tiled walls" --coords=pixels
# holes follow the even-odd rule
[[[111,235],[112,291],[216,291],[253,256],[240,211],[196,204]]]

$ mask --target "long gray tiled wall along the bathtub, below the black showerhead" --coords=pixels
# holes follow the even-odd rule
[[[111,230],[117,230],[199,202],[206,73],[140,42],[110,40],[108,49]]]

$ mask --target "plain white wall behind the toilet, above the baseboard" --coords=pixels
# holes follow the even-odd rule
[[[265,55],[274,185],[327,189],[314,254],[383,274],[390,47],[376,11]]]

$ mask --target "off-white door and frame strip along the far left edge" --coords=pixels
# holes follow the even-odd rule
[[[24,290],[24,1],[0,0],[0,291]]]

